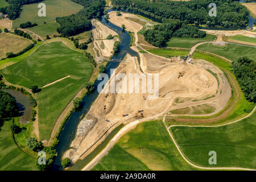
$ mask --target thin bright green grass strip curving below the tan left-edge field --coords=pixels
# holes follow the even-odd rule
[[[8,67],[14,63],[17,63],[23,59],[25,59],[27,56],[29,56],[33,51],[35,51],[35,49],[37,49],[39,46],[42,46],[42,42],[38,42],[36,43],[36,46],[34,46],[32,49],[30,49],[29,51],[23,53],[22,55],[19,55],[17,57],[11,57],[9,59],[5,59],[0,61],[0,69],[3,69],[5,67]]]

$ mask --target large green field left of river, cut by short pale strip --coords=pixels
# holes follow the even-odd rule
[[[1,72],[7,81],[27,88],[32,85],[42,88],[70,76],[36,94],[40,138],[48,140],[57,118],[89,80],[93,67],[82,53],[69,49],[62,42],[53,42],[40,46],[32,55]]]

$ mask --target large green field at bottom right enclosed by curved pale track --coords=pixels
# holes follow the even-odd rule
[[[191,162],[207,167],[256,169],[256,112],[249,118],[221,127],[172,127],[171,133]],[[209,151],[217,164],[208,163]]]

